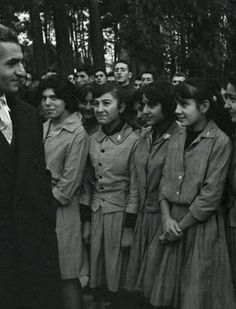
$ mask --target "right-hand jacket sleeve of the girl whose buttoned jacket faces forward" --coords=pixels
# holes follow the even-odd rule
[[[126,212],[131,214],[137,214],[139,209],[139,195],[138,195],[138,185],[137,176],[134,163],[134,154],[138,145],[138,140],[136,140],[129,161],[129,175],[130,175],[130,189],[129,189],[129,200],[126,207]]]

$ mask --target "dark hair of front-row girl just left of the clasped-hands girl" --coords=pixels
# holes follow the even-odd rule
[[[150,105],[161,104],[162,113],[166,119],[176,119],[176,102],[172,92],[172,84],[168,81],[154,82],[140,89],[142,94],[148,98]]]

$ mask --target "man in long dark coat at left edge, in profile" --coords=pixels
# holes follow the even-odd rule
[[[22,61],[16,34],[0,25],[0,308],[55,309],[54,200],[37,113],[15,96]]]

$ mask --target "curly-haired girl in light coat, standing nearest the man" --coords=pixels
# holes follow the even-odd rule
[[[64,308],[82,307],[79,279],[88,276],[82,245],[79,196],[88,154],[88,137],[75,113],[78,108],[74,85],[51,76],[39,85],[43,110],[44,148],[52,174],[52,193],[57,211],[56,232]]]

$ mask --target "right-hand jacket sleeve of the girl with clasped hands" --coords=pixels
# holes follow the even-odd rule
[[[189,211],[198,221],[207,220],[220,205],[230,165],[232,145],[229,139],[218,136],[208,160],[208,169],[200,193]]]

